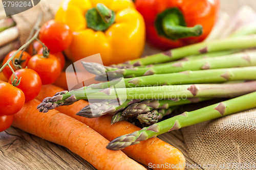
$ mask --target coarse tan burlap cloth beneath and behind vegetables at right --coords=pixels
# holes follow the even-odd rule
[[[255,0],[222,0],[235,14],[243,5],[256,11]],[[256,169],[256,109],[182,129],[189,157],[203,169]]]

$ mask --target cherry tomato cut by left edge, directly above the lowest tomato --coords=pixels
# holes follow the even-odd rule
[[[9,83],[0,83],[0,116],[12,115],[22,109],[25,95],[22,90]]]

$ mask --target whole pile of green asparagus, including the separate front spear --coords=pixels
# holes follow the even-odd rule
[[[48,112],[78,100],[89,100],[91,104],[77,115],[94,118],[112,114],[112,124],[137,117],[141,124],[151,125],[108,145],[108,149],[119,150],[170,130],[256,107],[253,47],[256,35],[243,35],[188,45],[118,65],[82,62],[96,75],[96,80],[111,81],[58,92],[42,101],[37,109]],[[123,86],[118,86],[120,82]],[[178,116],[171,114],[187,104],[214,98],[223,102]],[[160,122],[163,117],[167,119]]]

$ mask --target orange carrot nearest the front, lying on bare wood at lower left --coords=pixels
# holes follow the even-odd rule
[[[146,169],[121,151],[107,150],[109,141],[89,126],[57,110],[40,113],[38,104],[35,99],[25,103],[12,126],[68,148],[97,169]]]

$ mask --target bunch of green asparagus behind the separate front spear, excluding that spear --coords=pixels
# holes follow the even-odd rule
[[[256,66],[256,52],[234,54],[245,48],[255,47],[255,42],[254,35],[201,42],[111,67],[82,62],[89,72],[97,75],[97,80],[121,75],[125,77],[125,86],[130,88],[119,88],[117,93],[116,87],[113,87],[119,80],[93,84],[82,89],[57,93],[53,98],[44,100],[38,110],[47,112],[49,109],[69,105],[81,99],[105,100],[93,103],[77,114],[92,118],[115,113],[111,123],[134,116],[138,116],[141,123],[157,123],[164,115],[169,114],[170,110],[175,109],[173,107],[191,103],[187,98],[229,98],[256,91],[255,82],[200,84],[255,80],[256,67],[252,66]],[[181,60],[174,61],[177,59]],[[185,99],[178,102],[168,100],[173,97]],[[117,103],[119,99],[127,100],[120,105]]]

